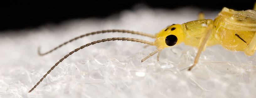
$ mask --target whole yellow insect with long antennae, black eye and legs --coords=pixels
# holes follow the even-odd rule
[[[106,32],[127,32],[131,34],[138,34],[142,36],[156,38],[155,42],[149,42],[134,38],[108,38],[83,45],[61,58],[54,66],[51,67],[49,71],[47,71],[47,73],[40,79],[39,82],[36,83],[36,85],[29,92],[33,91],[35,87],[38,86],[40,82],[65,58],[67,58],[74,52],[83,49],[84,47],[99,42],[127,40],[156,46],[157,50],[150,53],[149,56],[142,59],[141,62],[145,61],[147,58],[156,54],[157,52],[158,60],[160,52],[164,48],[172,47],[174,45],[178,45],[184,42],[185,45],[198,47],[198,52],[195,57],[194,64],[189,67],[189,70],[191,70],[197,64],[200,53],[205,50],[206,46],[220,44],[227,50],[244,51],[244,53],[249,56],[254,54],[256,50],[256,36],[254,36],[256,32],[256,12],[254,10],[234,11],[232,9],[224,7],[214,20],[204,19],[203,13],[200,13],[198,17],[199,20],[186,22],[181,25],[173,24],[171,26],[168,26],[155,35],[129,30],[103,30],[87,33],[79,37],[73,38],[43,54],[40,53],[39,49],[38,53],[42,56],[78,38]]]

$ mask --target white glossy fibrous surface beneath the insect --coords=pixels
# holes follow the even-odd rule
[[[179,71],[192,65],[196,48],[180,44],[164,49],[160,61],[155,55],[141,63],[141,59],[156,47],[143,48],[145,44],[129,41],[99,43],[75,52],[55,67],[34,91],[28,93],[46,71],[77,47],[111,37],[154,39],[124,33],[99,34],[69,43],[46,56],[37,55],[38,46],[42,47],[42,52],[48,51],[73,37],[105,29],[155,34],[173,23],[196,20],[200,11],[191,7],[163,10],[138,5],[132,11],[125,10],[104,19],[77,19],[1,33],[0,97],[255,97],[255,56],[227,51],[217,45],[207,47],[192,71]],[[204,12],[206,18],[210,19],[214,19],[218,13]]]

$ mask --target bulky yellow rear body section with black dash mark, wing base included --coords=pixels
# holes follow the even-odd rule
[[[213,22],[219,44],[227,50],[244,51],[256,30],[253,13],[255,11],[235,11],[224,7]]]

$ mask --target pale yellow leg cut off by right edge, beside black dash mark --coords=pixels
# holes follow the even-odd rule
[[[248,44],[248,46],[245,48],[244,53],[246,55],[253,55],[256,51],[256,34],[254,34],[251,42]]]

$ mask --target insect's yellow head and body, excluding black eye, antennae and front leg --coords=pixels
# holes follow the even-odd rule
[[[256,32],[256,12],[253,10],[234,11],[226,7],[214,21],[202,19],[168,26],[156,34],[155,45],[158,50],[171,47],[165,44],[165,38],[168,35],[175,35],[178,38],[176,45],[184,42],[185,45],[200,47],[205,36],[204,31],[209,24],[212,24],[214,28],[206,46],[220,44],[227,50],[244,51],[247,55],[254,54],[254,51],[250,53],[246,51]],[[176,29],[171,31],[170,28],[173,27]]]

